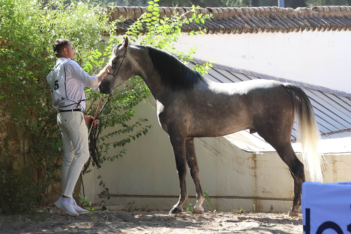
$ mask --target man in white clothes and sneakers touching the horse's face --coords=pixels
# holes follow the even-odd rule
[[[96,76],[88,75],[74,60],[74,50],[67,39],[57,39],[53,46],[58,57],[55,67],[46,76],[52,91],[52,107],[57,111],[57,124],[62,133],[63,159],[61,168],[62,196],[55,206],[69,215],[86,214],[77,206],[73,189],[81,169],[89,159],[88,125],[91,115],[84,115],[84,86],[96,89],[107,72],[107,65]],[[96,126],[97,120],[94,120]]]

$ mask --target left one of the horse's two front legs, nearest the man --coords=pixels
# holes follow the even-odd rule
[[[174,157],[176,158],[177,172],[180,185],[179,201],[170,210],[170,214],[178,214],[183,211],[183,205],[188,201],[188,194],[186,192],[186,149],[185,137],[170,135],[170,141],[173,147]]]

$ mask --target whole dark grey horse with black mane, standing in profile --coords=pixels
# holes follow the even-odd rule
[[[320,138],[316,120],[309,99],[298,86],[271,80],[212,82],[171,54],[151,46],[128,46],[127,38],[113,48],[109,64],[111,69],[99,84],[101,93],[108,94],[138,75],[157,102],[159,123],[170,137],[180,183],[179,201],[170,213],[182,212],[188,200],[186,163],[196,187],[193,213],[204,210],[194,137],[223,136],[250,129],[272,145],[289,167],[294,180],[289,215],[297,215],[305,173],[290,143],[295,115],[303,162],[312,180],[322,180],[322,159],[316,151]]]

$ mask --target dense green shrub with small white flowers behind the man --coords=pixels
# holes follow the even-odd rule
[[[15,213],[31,210],[59,181],[61,134],[45,79],[56,61],[53,42],[71,40],[93,73],[113,25],[100,6],[82,2],[3,0],[0,7],[0,208]]]

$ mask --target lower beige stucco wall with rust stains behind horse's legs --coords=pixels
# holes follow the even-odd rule
[[[146,118],[152,125],[149,133],[126,145],[127,153],[123,158],[113,162],[105,161],[101,170],[102,178],[110,194],[127,195],[172,195],[179,196],[179,181],[176,164],[168,140],[168,135],[161,129],[157,120],[156,103],[152,97],[144,100],[136,108],[134,120]],[[113,131],[113,129],[109,129]],[[287,212],[292,201],[293,180],[287,166],[276,152],[248,153],[235,147],[223,137],[198,138],[195,148],[200,168],[200,181],[203,189],[210,196],[242,196],[251,199],[211,199],[215,209],[230,211],[244,207],[245,210],[264,212]],[[112,147],[111,154],[120,149]],[[351,155],[325,155],[329,167],[324,173],[325,182],[350,180]],[[89,200],[107,201],[99,198],[102,191],[98,186],[98,171],[84,175],[85,195]],[[189,196],[195,196],[192,178],[187,173]],[[278,200],[253,200],[258,198],[275,198]],[[170,209],[178,198],[116,198],[108,200],[109,205],[133,208]],[[195,199],[188,203],[194,205]],[[184,206],[183,208],[186,208]],[[205,209],[211,209],[204,202]]]

